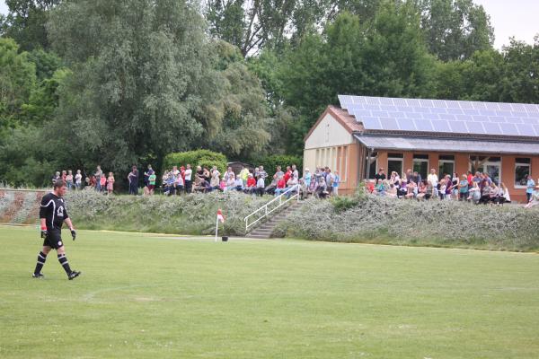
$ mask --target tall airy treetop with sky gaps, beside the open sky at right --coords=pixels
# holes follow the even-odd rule
[[[490,16],[473,0],[418,0],[430,53],[442,61],[464,60],[492,48]]]

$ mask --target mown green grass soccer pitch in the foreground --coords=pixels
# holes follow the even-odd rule
[[[67,232],[65,232],[67,235]],[[537,358],[539,256],[0,227],[1,358]]]

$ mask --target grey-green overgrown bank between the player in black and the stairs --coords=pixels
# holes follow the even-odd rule
[[[77,228],[127,232],[211,234],[216,212],[226,217],[220,233],[243,235],[243,218],[268,201],[242,193],[192,194],[180,197],[102,196],[93,191],[72,192],[66,197],[68,213]]]

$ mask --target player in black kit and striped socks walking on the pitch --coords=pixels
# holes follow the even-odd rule
[[[57,180],[54,182],[53,191],[41,199],[40,207],[40,222],[41,222],[41,238],[43,241],[43,249],[38,255],[38,264],[32,275],[33,278],[43,278],[41,274],[41,268],[45,264],[47,255],[52,249],[57,250],[58,261],[64,267],[67,274],[67,279],[72,280],[77,276],[80,276],[81,272],[71,270],[66,258],[66,251],[64,250],[64,242],[62,241],[62,224],[66,222],[73,241],[76,238],[75,228],[73,223],[66,212],[66,206],[64,203],[64,195],[66,195],[66,182],[64,180]]]

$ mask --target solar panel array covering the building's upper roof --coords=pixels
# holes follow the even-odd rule
[[[539,105],[339,95],[365,129],[492,136],[539,136]]]

